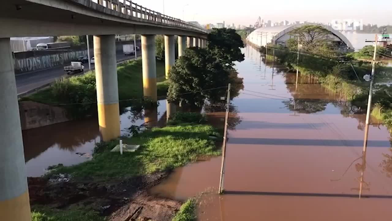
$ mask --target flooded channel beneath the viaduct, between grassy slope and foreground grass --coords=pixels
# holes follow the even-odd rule
[[[157,119],[165,121],[166,100],[159,102],[157,111],[145,112],[143,109],[127,107],[127,111],[120,116],[121,134],[127,136],[127,128],[131,125],[142,125],[145,123],[145,117],[149,122]],[[101,141],[97,118],[25,130],[22,135],[28,177],[44,175],[48,166],[70,166],[89,160],[77,153],[86,153],[87,157],[91,157],[95,143]]]

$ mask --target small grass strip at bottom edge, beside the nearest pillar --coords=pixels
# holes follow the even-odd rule
[[[32,206],[34,212],[31,213],[32,221],[104,221],[93,208],[86,210],[77,206],[70,206],[64,210],[47,208],[45,206]]]

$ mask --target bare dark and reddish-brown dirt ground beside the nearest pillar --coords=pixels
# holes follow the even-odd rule
[[[181,202],[162,199],[147,193],[169,173],[133,177],[111,182],[89,180],[53,182],[43,177],[29,177],[31,205],[66,209],[71,205],[88,207],[109,221],[170,221]]]

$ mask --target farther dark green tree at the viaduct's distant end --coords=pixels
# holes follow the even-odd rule
[[[208,34],[208,50],[223,66],[233,66],[234,61],[243,61],[244,47],[241,36],[234,29],[214,28]]]

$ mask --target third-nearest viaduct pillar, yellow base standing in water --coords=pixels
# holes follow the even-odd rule
[[[143,96],[157,101],[155,35],[142,35]]]

